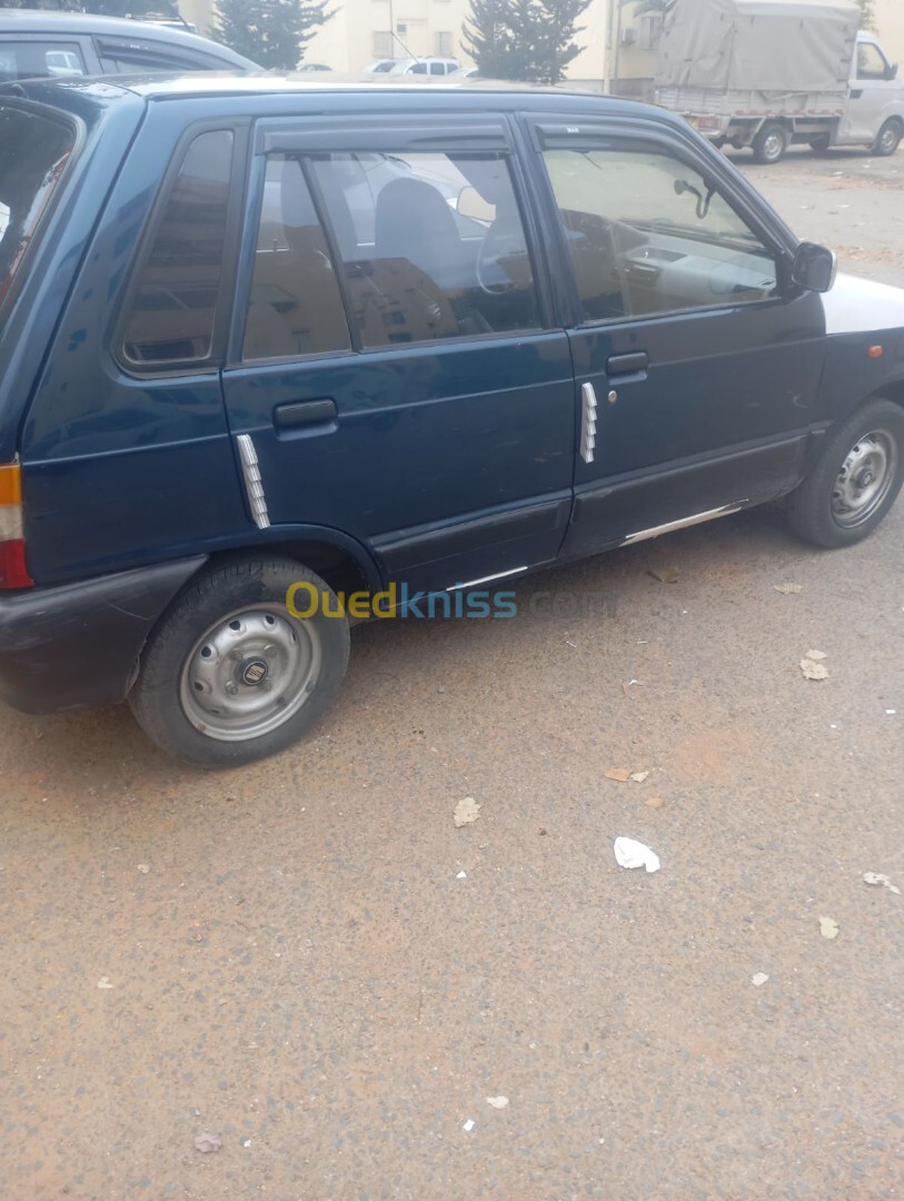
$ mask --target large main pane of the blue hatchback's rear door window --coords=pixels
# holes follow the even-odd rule
[[[503,155],[311,155],[365,347],[538,325],[533,268]]]

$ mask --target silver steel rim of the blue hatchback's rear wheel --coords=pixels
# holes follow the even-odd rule
[[[244,742],[279,729],[305,704],[323,649],[310,621],[255,604],[215,621],[185,659],[179,699],[196,730]]]

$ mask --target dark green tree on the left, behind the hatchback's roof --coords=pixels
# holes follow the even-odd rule
[[[292,70],[333,16],[329,0],[217,0],[214,36],[262,67]]]

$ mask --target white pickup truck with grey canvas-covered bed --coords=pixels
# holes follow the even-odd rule
[[[717,145],[778,162],[791,143],[866,145],[904,137],[904,80],[849,0],[672,0],[657,102]]]

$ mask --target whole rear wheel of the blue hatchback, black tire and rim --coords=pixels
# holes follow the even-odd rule
[[[286,604],[297,582],[307,586],[298,593],[301,617]],[[349,635],[339,611],[333,590],[289,558],[212,567],[175,598],[148,640],[132,712],[158,747],[200,767],[282,751],[342,682]]]

